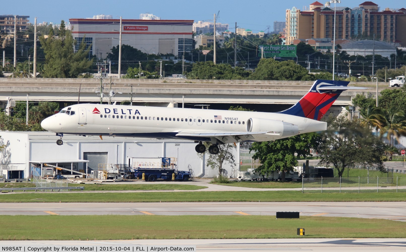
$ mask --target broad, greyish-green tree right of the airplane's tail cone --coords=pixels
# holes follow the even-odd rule
[[[322,140],[315,150],[320,164],[332,164],[341,177],[346,167],[355,164],[382,170],[381,157],[385,148],[385,144],[368,128],[361,126],[358,120],[351,122],[337,117],[333,125],[322,133]]]

